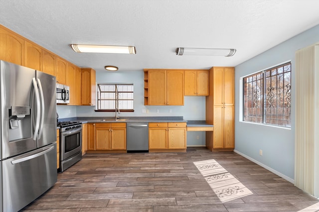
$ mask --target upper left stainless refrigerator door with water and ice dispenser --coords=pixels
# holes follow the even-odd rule
[[[1,159],[37,148],[30,104],[33,77],[32,69],[0,61]]]

